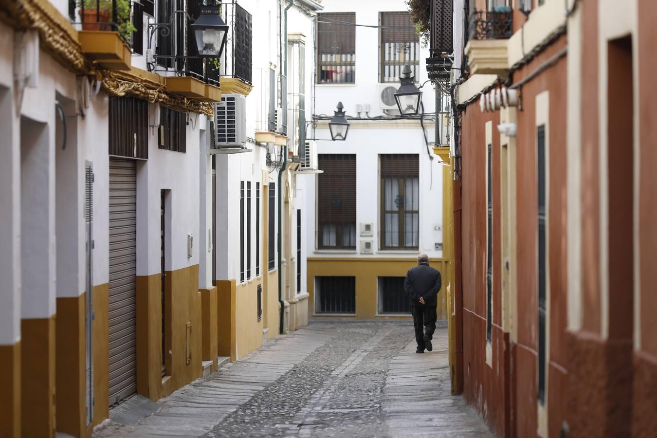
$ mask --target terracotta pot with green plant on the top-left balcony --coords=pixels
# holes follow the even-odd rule
[[[130,0],[116,3],[116,31],[125,41],[137,30],[130,20]],[[82,30],[112,30],[112,0],[78,0]],[[82,13],[82,7],[84,14]]]

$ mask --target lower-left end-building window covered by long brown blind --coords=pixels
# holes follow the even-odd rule
[[[317,240],[319,248],[356,248],[356,156],[319,154]]]

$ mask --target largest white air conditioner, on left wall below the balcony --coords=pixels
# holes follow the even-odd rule
[[[240,94],[221,96],[214,107],[215,148],[246,145],[246,99]]]

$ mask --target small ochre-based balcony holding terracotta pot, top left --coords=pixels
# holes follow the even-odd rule
[[[107,70],[129,70],[136,30],[130,0],[69,0],[68,15],[85,56]]]

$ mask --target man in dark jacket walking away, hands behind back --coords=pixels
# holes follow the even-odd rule
[[[429,256],[417,256],[417,266],[409,269],[404,280],[404,291],[411,298],[411,315],[415,326],[415,353],[434,349],[431,339],[436,330],[436,306],[440,291],[440,272],[429,266]]]

